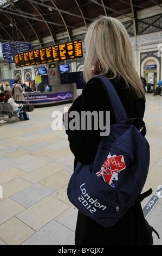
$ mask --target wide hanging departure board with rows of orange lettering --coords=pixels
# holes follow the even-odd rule
[[[61,60],[70,60],[82,57],[82,40],[80,39],[16,54],[15,64],[16,68],[20,68],[20,66],[59,62]]]

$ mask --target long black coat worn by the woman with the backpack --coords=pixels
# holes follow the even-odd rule
[[[122,81],[114,81],[118,93],[129,118],[143,118],[145,112],[145,97],[138,98],[132,88],[127,88]],[[111,111],[107,92],[98,79],[88,82],[69,111]],[[70,119],[69,119],[70,121]],[[115,123],[111,111],[111,124]],[[98,131],[66,131],[70,149],[75,156],[74,168],[77,161],[90,163],[95,156],[96,147],[100,141]],[[139,227],[140,226],[140,227]],[[135,204],[112,227],[105,228],[85,215],[78,213],[75,245],[142,245],[141,239],[146,234],[144,216],[140,203]],[[147,241],[146,241],[147,244]]]

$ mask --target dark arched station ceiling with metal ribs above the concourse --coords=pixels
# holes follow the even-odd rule
[[[75,29],[84,34],[99,15],[126,18],[137,27],[137,11],[157,7],[162,13],[161,0],[0,0],[0,41],[37,41],[44,47],[43,38],[57,44],[58,34],[72,41]],[[161,22],[155,26],[162,30]]]

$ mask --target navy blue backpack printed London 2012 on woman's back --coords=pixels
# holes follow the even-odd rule
[[[131,208],[144,187],[150,148],[144,137],[144,121],[128,119],[111,82],[97,77],[105,84],[116,123],[110,126],[109,135],[101,138],[94,161],[88,165],[77,163],[67,194],[82,214],[103,227],[111,227]],[[135,123],[140,123],[141,132]]]

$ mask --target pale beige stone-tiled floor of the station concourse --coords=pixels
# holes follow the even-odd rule
[[[66,193],[74,156],[65,131],[51,128],[52,113],[70,106],[35,108],[28,121],[0,125],[0,245],[74,245],[77,210]],[[146,94],[144,121],[151,161],[143,192],[153,195],[162,183],[162,97]],[[162,245],[161,198],[147,221]]]

